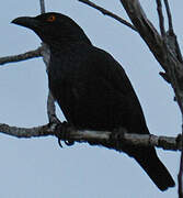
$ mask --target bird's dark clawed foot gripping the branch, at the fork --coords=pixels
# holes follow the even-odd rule
[[[75,144],[75,141],[70,141],[69,139],[69,130],[71,125],[64,121],[62,123],[59,121],[57,123],[56,129],[55,129],[55,135],[58,138],[58,144],[60,147],[62,147],[61,140],[64,140],[65,144],[68,146],[71,146]]]

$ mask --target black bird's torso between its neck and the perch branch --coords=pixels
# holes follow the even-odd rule
[[[49,88],[75,125],[101,130],[124,125],[129,132],[140,125],[139,133],[147,133],[133,86],[108,53],[79,45],[65,56],[54,55],[50,69]]]

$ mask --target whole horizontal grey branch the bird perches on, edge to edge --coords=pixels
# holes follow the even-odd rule
[[[90,131],[90,130],[76,130],[73,128],[66,127],[62,128],[61,124],[45,124],[36,128],[16,128],[16,127],[9,127],[8,124],[0,124],[0,131],[4,134],[9,134],[16,138],[41,138],[47,135],[56,135],[56,130],[59,129],[59,138],[64,141],[72,140],[77,142],[90,142],[94,145],[101,145],[103,142],[113,141],[114,148],[121,151],[121,146],[116,148],[116,144],[130,144],[135,146],[157,146],[163,150],[171,150],[171,151],[180,151],[181,150],[181,136],[179,138],[168,138],[168,136],[156,136],[150,134],[131,134],[126,133],[125,130],[119,129],[122,136],[117,136],[117,139],[111,138],[112,132],[110,131]],[[61,138],[61,131],[67,131],[67,139]],[[58,134],[58,133],[57,133]]]

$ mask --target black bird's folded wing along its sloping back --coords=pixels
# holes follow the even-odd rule
[[[92,82],[101,79],[95,87],[105,85],[103,88],[108,88],[111,92],[108,97],[111,97],[111,101],[114,101],[112,105],[114,120],[118,120],[118,123],[122,124],[125,122],[129,132],[149,133],[139,100],[119,63],[105,51],[93,47],[84,64],[88,65],[88,68],[90,66],[90,74],[93,76]],[[106,101],[104,103],[107,106]]]

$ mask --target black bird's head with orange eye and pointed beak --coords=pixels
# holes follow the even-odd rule
[[[60,13],[48,12],[34,18],[21,16],[14,19],[12,23],[33,30],[47,44],[80,41],[90,44],[82,29],[72,19]]]

